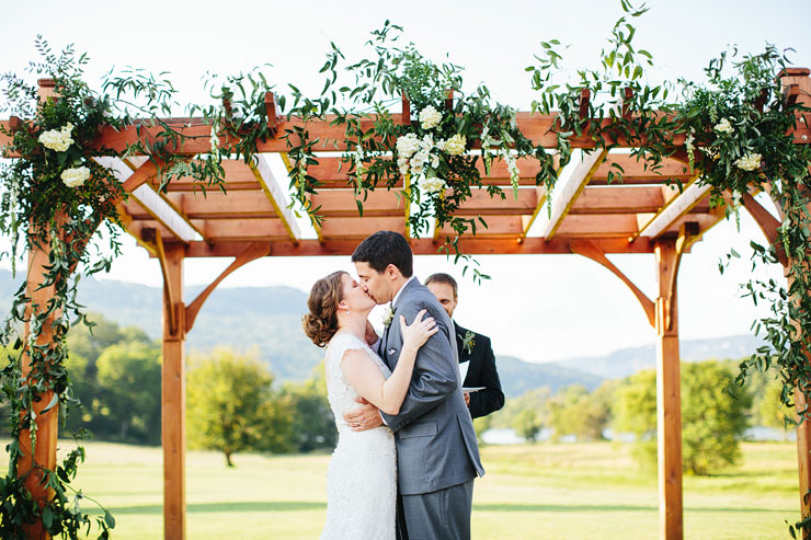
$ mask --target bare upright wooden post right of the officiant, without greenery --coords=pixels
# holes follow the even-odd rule
[[[659,452],[659,538],[684,537],[682,509],[682,397],[678,365],[676,239],[655,243],[659,265],[656,297],[656,437]]]

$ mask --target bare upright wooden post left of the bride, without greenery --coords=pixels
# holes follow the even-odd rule
[[[158,235],[163,272],[163,365],[161,366],[161,440],[163,444],[163,538],[186,535],[186,383],[185,309],[183,306],[182,244],[167,244]]]

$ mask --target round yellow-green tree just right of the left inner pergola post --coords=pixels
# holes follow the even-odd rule
[[[273,376],[252,356],[225,348],[194,361],[186,384],[189,443],[231,456],[244,450],[289,451],[289,404],[272,390]]]

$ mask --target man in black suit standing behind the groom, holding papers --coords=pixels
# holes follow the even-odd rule
[[[444,273],[432,274],[425,280],[425,286],[454,322],[462,387],[481,388],[477,392],[465,393],[470,415],[478,418],[500,410],[504,406],[504,392],[501,391],[490,337],[460,326],[454,319],[454,311],[459,302],[456,279]]]

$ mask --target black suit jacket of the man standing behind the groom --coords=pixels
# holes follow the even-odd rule
[[[470,416],[478,418],[499,411],[504,406],[504,392],[501,390],[501,380],[499,371],[495,370],[495,355],[490,344],[490,337],[472,332],[472,340],[466,342],[468,329],[460,326],[454,321],[456,326],[456,349],[459,352],[459,365],[466,361],[468,372],[465,376],[464,387],[478,388],[484,387],[478,392],[470,394]],[[467,343],[467,345],[466,345]]]

